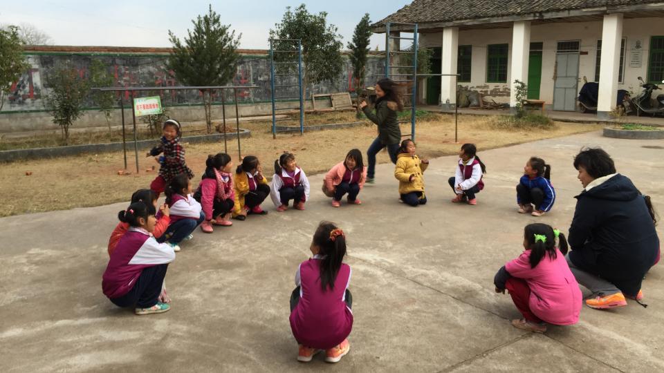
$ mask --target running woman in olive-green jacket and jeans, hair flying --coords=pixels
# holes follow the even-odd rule
[[[401,142],[401,129],[397,120],[397,111],[403,111],[403,103],[397,92],[398,85],[388,78],[383,78],[376,83],[376,114],[371,113],[367,102],[362,101],[360,108],[367,118],[378,126],[378,137],[367,149],[369,166],[367,168],[367,182],[374,182],[376,170],[376,154],[387,146],[387,153],[392,163],[396,164],[396,155]]]

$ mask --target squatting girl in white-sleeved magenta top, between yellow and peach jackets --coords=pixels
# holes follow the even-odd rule
[[[304,210],[304,202],[309,199],[309,180],[297,166],[295,155],[284,153],[275,160],[270,198],[279,212],[286,211],[291,200],[295,209]]]

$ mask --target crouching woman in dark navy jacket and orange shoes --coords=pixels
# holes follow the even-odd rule
[[[567,263],[574,277],[593,292],[591,308],[627,305],[643,298],[641,280],[658,253],[654,211],[631,180],[616,173],[602,149],[583,149],[574,168],[584,189],[576,196]]]

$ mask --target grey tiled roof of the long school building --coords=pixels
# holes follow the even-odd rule
[[[592,8],[620,8],[640,4],[662,3],[662,0],[414,0],[409,5],[374,23],[429,23],[466,19],[533,15]]]

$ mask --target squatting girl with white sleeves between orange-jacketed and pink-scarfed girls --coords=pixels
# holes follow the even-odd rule
[[[187,175],[177,175],[166,187],[166,203],[170,209],[171,224],[160,241],[180,251],[182,240],[190,240],[192,232],[205,220],[201,204],[192,197],[192,182]]]

